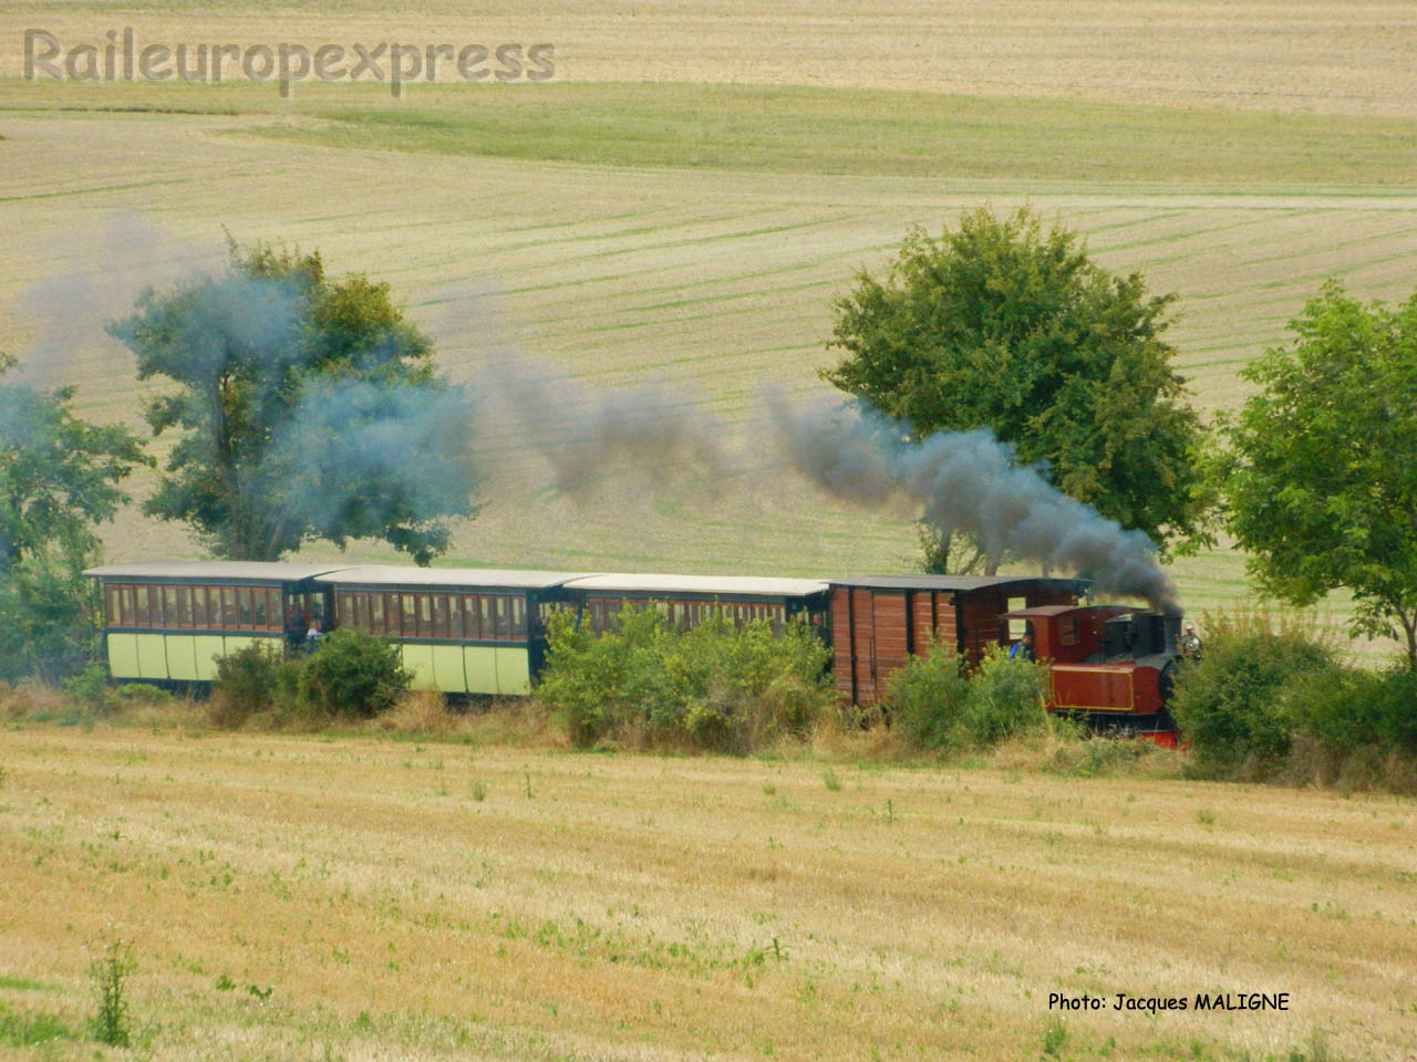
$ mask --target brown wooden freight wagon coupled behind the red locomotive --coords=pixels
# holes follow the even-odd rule
[[[1007,646],[1023,633],[1006,612],[1041,605],[1076,605],[1084,579],[982,575],[880,575],[833,579],[832,651],[836,688],[853,704],[871,705],[911,656],[934,641],[954,646],[976,667],[988,646]]]

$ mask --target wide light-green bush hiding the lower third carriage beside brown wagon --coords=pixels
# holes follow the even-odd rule
[[[747,752],[805,733],[836,707],[825,677],[830,650],[806,624],[774,633],[720,615],[670,630],[657,609],[626,607],[597,637],[574,613],[547,624],[537,697],[575,745],[611,735]]]

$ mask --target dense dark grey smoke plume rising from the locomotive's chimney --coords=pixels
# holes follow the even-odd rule
[[[908,429],[859,406],[791,406],[767,396],[779,445],[794,467],[837,498],[880,507],[897,498],[935,527],[965,531],[995,556],[1013,554],[1078,572],[1104,593],[1176,610],[1176,590],[1141,531],[1127,531],[1012,463],[988,430]]]

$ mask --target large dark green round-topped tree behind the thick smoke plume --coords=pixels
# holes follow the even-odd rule
[[[1098,266],[1074,234],[1044,235],[1029,210],[1000,219],[981,208],[939,239],[913,231],[884,282],[857,273],[829,344],[846,357],[822,377],[917,438],[990,429],[1165,549],[1197,532],[1202,508],[1200,425],[1161,338],[1173,300]],[[931,538],[938,571],[982,559],[973,544],[966,561],[948,528]]]

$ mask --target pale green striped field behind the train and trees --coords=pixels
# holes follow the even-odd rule
[[[55,347],[34,286],[82,280],[92,300],[61,329],[61,353],[28,371],[78,382],[92,416],[136,422],[145,392],[96,323],[145,282],[218,261],[225,227],[390,280],[453,378],[476,382],[490,355],[514,351],[726,422],[731,474],[612,470],[571,498],[527,428],[485,402],[485,508],[458,530],[452,564],[913,564],[908,514],[819,497],[758,445],[757,411],[764,384],[825,392],[832,299],[913,225],[1030,204],[1104,265],[1178,292],[1172,337],[1207,413],[1240,401],[1237,370],[1284,340],[1325,278],[1404,297],[1417,255],[1417,119],[1400,115],[812,84],[419,85],[402,102],[298,85],[286,102],[273,85],[11,79],[0,136],[0,344]],[[113,559],[198,549],[135,513],[108,547]],[[1229,551],[1176,576],[1193,612],[1246,593]]]

